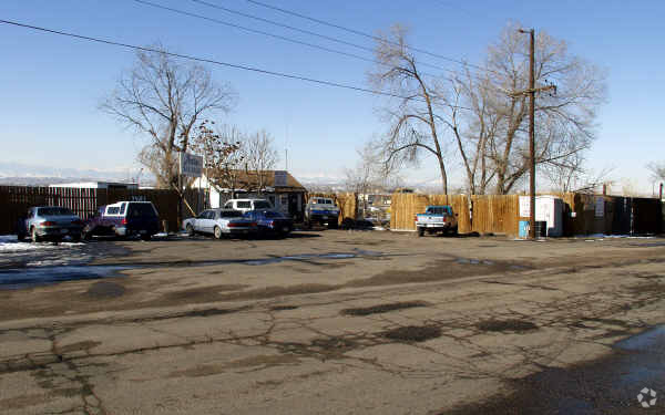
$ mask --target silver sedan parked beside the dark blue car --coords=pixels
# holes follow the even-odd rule
[[[183,229],[190,236],[212,234],[216,239],[221,239],[223,235],[252,235],[257,231],[255,221],[234,209],[204,210],[195,218],[185,219]]]

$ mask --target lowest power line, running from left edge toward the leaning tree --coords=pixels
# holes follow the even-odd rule
[[[401,100],[411,98],[410,96],[402,96],[402,95],[393,94],[390,92],[374,91],[374,90],[368,90],[368,89],[365,89],[361,86],[354,86],[354,85],[342,84],[342,83],[334,82],[334,81],[317,80],[314,77],[295,75],[295,74],[289,74],[289,73],[284,73],[284,72],[276,72],[276,71],[265,70],[265,69],[255,68],[255,66],[241,65],[237,63],[228,63],[228,62],[216,61],[216,60],[207,59],[207,58],[197,58],[197,56],[192,56],[192,55],[182,54],[182,53],[167,52],[167,51],[158,50],[155,48],[137,46],[137,45],[130,44],[130,43],[116,42],[116,41],[112,41],[112,40],[108,40],[108,39],[93,38],[93,37],[88,37],[88,35],[83,35],[83,34],[64,32],[64,31],[60,31],[60,30],[47,29],[47,28],[41,28],[41,27],[31,25],[31,24],[27,24],[27,23],[20,23],[20,22],[16,22],[16,21],[11,21],[11,20],[0,19],[0,23],[10,24],[10,25],[14,25],[14,27],[23,28],[23,29],[30,29],[30,30],[34,30],[34,31],[39,31],[39,32],[44,32],[44,33],[52,33],[52,34],[59,34],[59,35],[69,37],[69,38],[75,38],[75,39],[85,40],[89,42],[109,44],[109,45],[113,45],[113,46],[121,46],[121,48],[125,48],[125,49],[133,49],[133,50],[144,51],[144,52],[163,53],[168,56],[185,59],[185,60],[190,60],[190,61],[211,63],[211,64],[215,64],[215,65],[227,66],[227,68],[238,69],[238,70],[243,70],[243,71],[263,73],[263,74],[272,75],[272,76],[286,77],[286,79],[290,79],[290,80],[304,81],[304,82],[309,82],[309,83],[315,83],[315,84],[320,84],[320,85],[326,85],[326,86],[334,86],[334,87],[340,87],[340,89],[351,90],[351,91],[357,91],[357,92],[365,92],[365,93],[369,93],[369,94],[374,94],[374,95],[390,96],[390,97],[396,97],[396,98],[401,98]],[[472,108],[464,107],[464,106],[452,106],[452,107],[459,108],[459,110],[473,111]]]

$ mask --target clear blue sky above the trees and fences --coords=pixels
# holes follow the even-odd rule
[[[277,28],[207,4],[278,21],[371,49],[372,40],[287,15],[247,0],[150,0],[209,19],[270,32],[301,42],[371,59],[348,44]],[[375,34],[395,23],[410,28],[411,45],[481,63],[488,45],[508,22],[546,31],[565,40],[573,54],[607,73],[608,100],[600,108],[597,138],[587,154],[594,170],[612,168],[611,178],[651,191],[649,162],[665,160],[665,2],[562,1],[305,1],[263,0],[330,23]],[[416,4],[416,6],[415,6]],[[170,51],[368,87],[372,64],[247,33],[208,20],[156,9],[134,0],[3,0],[0,19],[134,45],[161,43]],[[0,24],[0,162],[81,169],[136,172],[136,154],[146,137],[127,129],[99,105],[132,68],[135,52],[57,34]],[[459,65],[428,55],[446,69]],[[278,167],[296,177],[344,177],[358,162],[357,149],[386,131],[378,110],[386,98],[344,89],[275,77],[222,65],[205,65],[218,83],[228,83],[238,102],[218,123],[244,131],[266,129],[280,153]],[[423,160],[403,176],[411,183],[439,177]],[[461,169],[451,172],[453,181]]]

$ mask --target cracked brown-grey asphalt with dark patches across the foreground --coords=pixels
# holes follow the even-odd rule
[[[51,250],[121,270],[0,290],[0,413],[642,413],[662,357],[621,400],[623,372],[587,365],[621,367],[615,344],[665,322],[661,242],[326,230]]]

